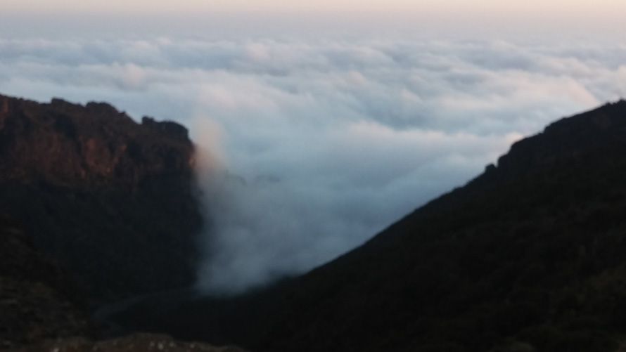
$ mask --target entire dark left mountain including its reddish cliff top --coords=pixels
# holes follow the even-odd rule
[[[106,103],[0,96],[0,199],[97,304],[194,281],[193,144]]]

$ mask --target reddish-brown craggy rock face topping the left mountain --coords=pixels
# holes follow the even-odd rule
[[[39,104],[4,96],[0,101],[5,181],[136,189],[151,176],[191,175],[193,145],[174,122],[144,117],[137,124],[106,103]]]

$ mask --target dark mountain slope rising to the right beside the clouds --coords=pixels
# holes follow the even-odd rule
[[[515,143],[497,167],[296,280],[257,349],[614,351],[625,253],[620,101]]]

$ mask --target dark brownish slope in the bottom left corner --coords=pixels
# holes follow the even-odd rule
[[[94,330],[63,270],[10,216],[0,214],[0,349]]]

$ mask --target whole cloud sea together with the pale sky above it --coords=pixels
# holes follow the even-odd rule
[[[172,4],[4,0],[0,93],[189,127],[212,294],[304,273],[626,96],[626,1]]]

